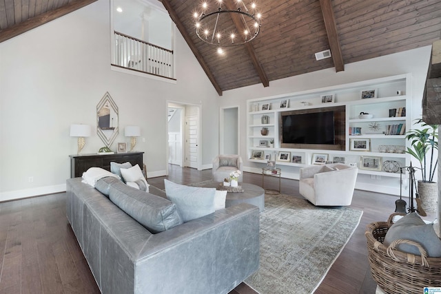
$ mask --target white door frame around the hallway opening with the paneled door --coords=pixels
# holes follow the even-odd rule
[[[170,105],[172,104],[172,105]],[[167,136],[165,136],[165,176],[169,175],[169,169],[168,169],[168,157],[170,155],[170,149],[168,147],[168,108],[169,107],[183,107],[183,116],[181,119],[181,129],[183,130],[181,136],[181,140],[183,142],[183,148],[182,148],[182,158],[183,158],[183,165],[185,165],[185,107],[186,106],[195,106],[198,109],[198,171],[202,170],[202,151],[201,151],[201,142],[202,142],[202,129],[201,129],[201,120],[202,120],[202,104],[194,104],[194,103],[186,103],[183,101],[172,101],[167,100],[165,101],[165,130],[167,132]]]

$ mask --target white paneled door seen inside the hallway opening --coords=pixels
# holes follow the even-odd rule
[[[185,116],[185,166],[199,168],[199,119],[198,116]]]

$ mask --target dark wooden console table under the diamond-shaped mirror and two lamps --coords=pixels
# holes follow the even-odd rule
[[[90,167],[101,167],[110,171],[111,161],[118,163],[129,161],[132,165],[138,164],[143,169],[143,154],[144,152],[70,155],[70,178],[83,176],[83,172]]]

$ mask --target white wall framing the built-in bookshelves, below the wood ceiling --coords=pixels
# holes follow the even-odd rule
[[[240,136],[240,156],[242,156],[244,160],[244,170],[258,172],[260,171],[260,168],[263,167],[262,164],[249,162],[247,160],[247,140],[245,135],[247,133],[245,126],[247,119],[246,101],[248,99],[276,96],[280,94],[288,95],[289,93],[314,90],[320,87],[411,73],[413,76],[413,109],[411,116],[412,119],[414,119],[421,117],[422,115],[422,92],[424,90],[424,82],[426,81],[430,54],[431,47],[427,46],[424,48],[378,57],[376,59],[369,59],[367,61],[350,63],[345,65],[344,72],[335,72],[334,68],[329,68],[327,70],[283,78],[278,81],[271,81],[269,87],[263,87],[263,85],[259,84],[225,91],[223,97],[220,99],[220,107],[230,107],[240,103],[240,125],[243,126],[241,128],[243,136]],[[298,168],[287,166],[283,166],[282,168],[283,176],[287,178],[296,178],[296,176],[298,176]],[[384,189],[384,187],[390,186],[391,182],[387,179],[374,180],[372,185],[377,185],[378,187],[379,185],[383,185]],[[399,185],[397,186],[396,183],[393,185],[396,186],[396,191],[399,191]],[[373,186],[371,188],[374,188]],[[378,190],[381,189],[381,187],[378,188]]]

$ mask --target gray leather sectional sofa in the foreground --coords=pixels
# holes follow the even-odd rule
[[[258,269],[257,207],[238,204],[179,224],[176,206],[152,195],[161,190],[110,178],[98,186],[109,196],[68,179],[66,213],[102,293],[228,293]]]

